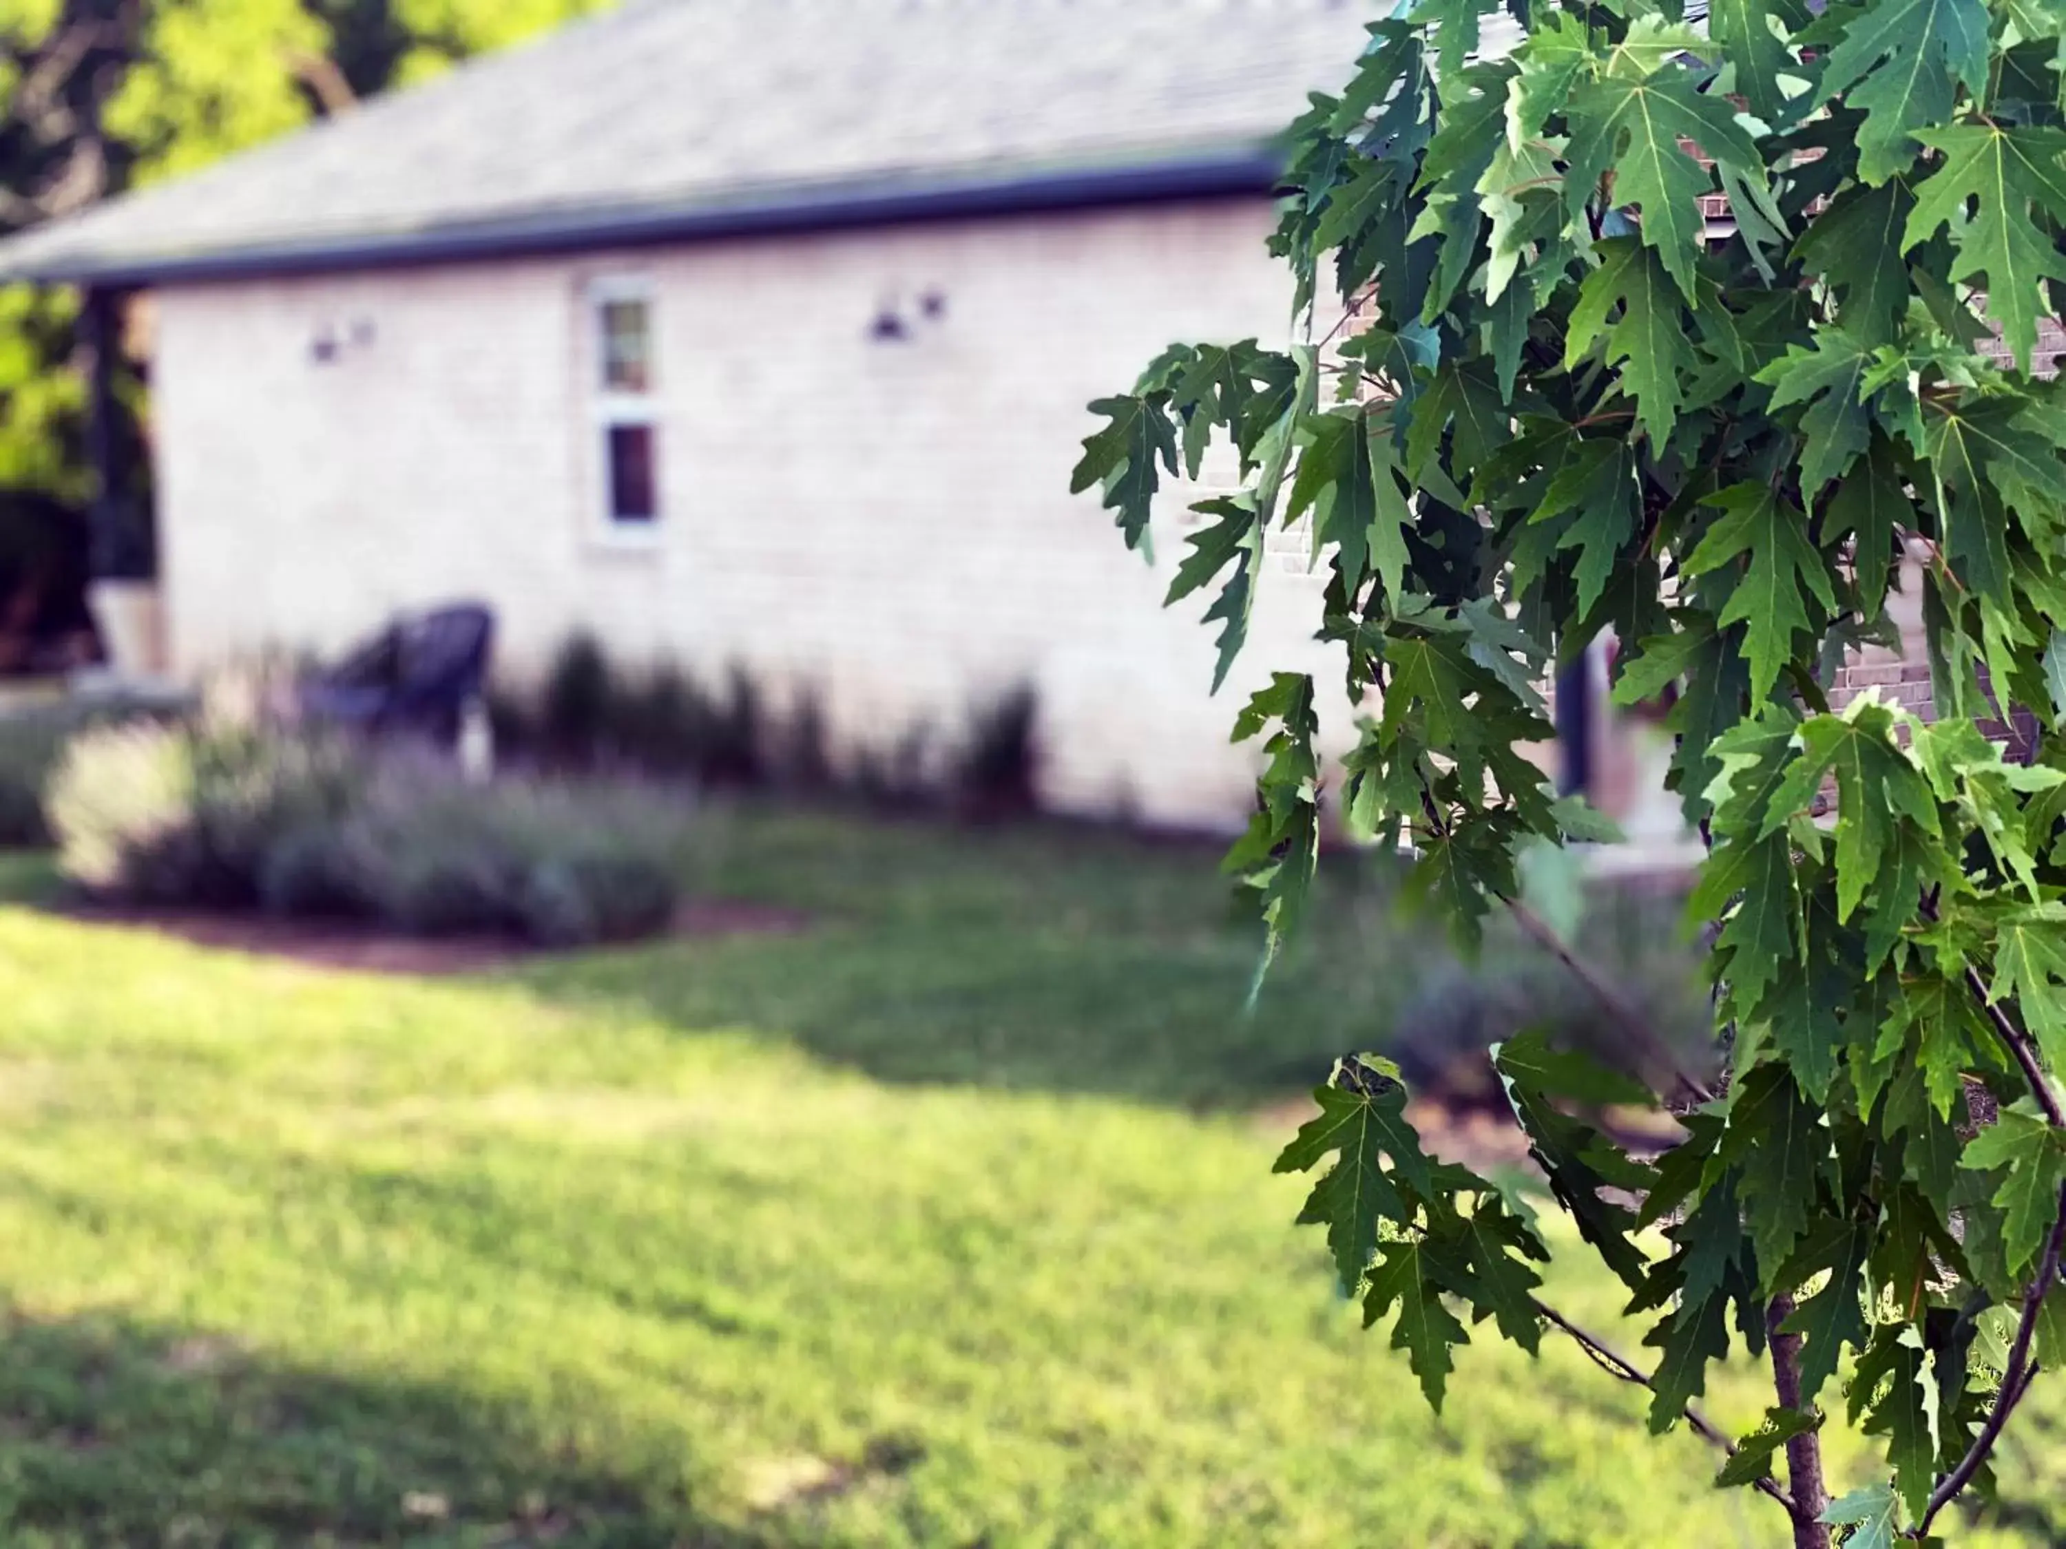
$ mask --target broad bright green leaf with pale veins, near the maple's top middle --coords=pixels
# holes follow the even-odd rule
[[[1721,165],[1764,190],[1764,159],[1756,140],[1735,122],[1735,109],[1700,91],[1692,70],[1667,62],[1640,81],[1607,74],[1578,87],[1564,116],[1566,200],[1578,215],[1599,178],[1614,171],[1614,202],[1642,209],[1642,242],[1657,250],[1680,295],[1696,302],[1694,264],[1707,244],[1700,196],[1715,192],[1715,178],[1694,161],[1682,140],[1698,145]],[[1777,215],[1777,213],[1775,213]]]

